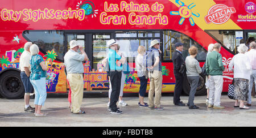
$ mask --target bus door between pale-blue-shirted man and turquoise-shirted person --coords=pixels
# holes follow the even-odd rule
[[[66,33],[65,40],[67,49],[69,42],[77,40],[79,45],[84,46],[89,60],[84,62],[84,90],[106,91],[109,90],[107,74],[101,62],[106,58],[106,42],[110,40],[110,33]]]

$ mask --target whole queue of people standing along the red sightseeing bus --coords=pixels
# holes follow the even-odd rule
[[[181,54],[183,50],[183,43],[177,42],[175,44],[176,50],[172,60],[174,62],[174,105],[185,106],[183,101],[180,101],[181,91],[183,87],[183,79],[187,77],[191,90],[187,106],[189,109],[199,109],[193,102],[197,84],[199,83],[199,76],[202,72],[199,62],[196,59],[197,48],[192,45],[188,49],[189,56],[183,59]],[[69,94],[69,108],[73,114],[85,114],[81,110],[81,103],[83,98],[84,67],[82,61],[88,60],[84,48],[78,44],[76,40],[69,42],[70,49],[64,56],[64,64],[67,70],[67,80],[70,88]],[[108,110],[110,114],[122,114],[123,112],[117,107],[118,105],[127,106],[127,103],[122,100],[123,87],[125,84],[126,72],[124,70],[127,64],[126,58],[119,51],[118,43],[112,39],[107,42],[109,48],[108,56],[103,60],[103,65],[108,72],[110,83]],[[139,77],[141,87],[139,88],[139,102],[140,107],[147,107],[150,110],[164,110],[161,106],[160,99],[162,97],[162,62],[160,49],[160,42],[152,40],[149,49],[146,51],[144,46],[138,47],[138,55],[135,59],[137,68],[137,75]],[[32,42],[27,42],[24,45],[24,52],[20,56],[20,76],[25,88],[25,108],[24,111],[29,111],[35,114],[36,117],[45,117],[46,114],[41,113],[42,106],[46,101],[46,70],[47,66],[44,64],[44,59],[39,55],[39,48]],[[81,54],[79,54],[79,50]],[[253,81],[256,80],[256,43],[250,43],[250,51],[245,44],[238,46],[239,54],[234,55],[229,64],[229,70],[234,72],[234,89],[235,89],[235,103],[234,107],[240,109],[250,109],[251,106],[251,90],[253,88]],[[222,56],[220,54],[221,45],[210,44],[208,46],[208,54],[205,62],[205,70],[207,72],[207,104],[208,108],[224,109],[221,106],[221,92],[223,87],[224,65],[222,63]],[[180,72],[181,66],[185,66],[185,73]],[[248,74],[250,72],[250,74]],[[148,103],[144,102],[144,97],[147,89],[148,79],[150,81],[150,88],[148,91]],[[35,90],[35,107],[29,104],[29,96],[32,93],[32,88]],[[155,98],[154,98],[155,96]],[[238,105],[240,100],[240,105]],[[247,101],[247,106],[245,106]]]

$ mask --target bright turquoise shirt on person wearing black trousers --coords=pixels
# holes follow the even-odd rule
[[[121,66],[117,66],[117,64],[115,63],[117,60],[120,60],[120,59],[121,59],[120,55],[118,55],[115,52],[115,50],[109,49],[108,60],[109,60],[110,71],[123,69],[122,64]]]

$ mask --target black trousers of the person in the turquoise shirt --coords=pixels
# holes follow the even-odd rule
[[[120,94],[122,72],[110,71],[109,76],[110,76],[110,82],[112,86],[109,107],[112,111],[117,111],[117,101]]]

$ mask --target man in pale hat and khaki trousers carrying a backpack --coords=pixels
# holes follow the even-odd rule
[[[160,98],[162,95],[162,62],[160,57],[160,42],[152,40],[150,49],[147,51],[147,59],[152,60],[151,64],[147,64],[148,76],[150,77],[150,90],[148,91],[148,109],[155,111],[163,110],[160,106]],[[148,60],[147,60],[148,61]],[[154,100],[155,93],[155,100]]]

